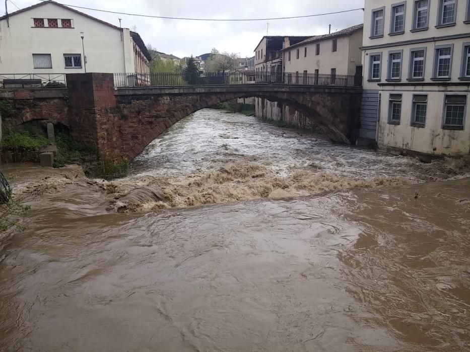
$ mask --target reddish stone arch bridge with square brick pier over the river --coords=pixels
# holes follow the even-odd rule
[[[31,120],[59,122],[76,140],[96,146],[100,157],[116,161],[135,158],[189,114],[235,98],[265,98],[290,106],[314,119],[334,142],[354,144],[360,127],[360,87],[246,84],[116,89],[113,75],[107,73],[68,74],[67,84],[67,89],[4,95],[15,102],[29,100],[7,119],[7,126]]]

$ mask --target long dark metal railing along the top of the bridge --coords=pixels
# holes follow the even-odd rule
[[[285,84],[357,87],[362,77],[297,72],[114,73],[116,87]]]

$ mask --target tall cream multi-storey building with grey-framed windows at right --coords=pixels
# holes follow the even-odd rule
[[[362,49],[380,147],[469,153],[470,0],[366,0]]]

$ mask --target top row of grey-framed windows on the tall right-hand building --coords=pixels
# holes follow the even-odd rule
[[[458,0],[412,0],[413,21],[411,32],[429,28],[430,7],[437,5],[436,28],[455,26]],[[470,0],[466,0],[465,23],[470,23]],[[390,7],[389,35],[405,33],[407,1],[392,4]],[[381,38],[384,34],[385,7],[372,10],[370,38]]]

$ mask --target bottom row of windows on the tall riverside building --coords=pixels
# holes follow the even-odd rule
[[[445,95],[442,111],[442,128],[463,130],[466,113],[466,95]],[[388,124],[401,123],[402,95],[390,94],[388,104]],[[413,127],[425,127],[428,111],[428,96],[413,95],[410,124]]]

